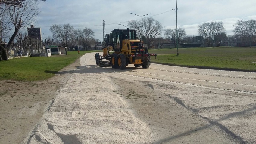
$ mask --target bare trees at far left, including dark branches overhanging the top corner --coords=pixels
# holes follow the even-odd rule
[[[39,1],[46,0],[1,0],[0,1],[0,60],[8,60],[7,53],[20,29],[33,23],[39,14]],[[3,38],[13,30],[8,44]]]

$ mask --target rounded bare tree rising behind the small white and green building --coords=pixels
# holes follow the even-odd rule
[[[69,24],[54,24],[50,27],[52,37],[60,42],[62,46],[68,47],[68,43],[74,35],[74,28]]]

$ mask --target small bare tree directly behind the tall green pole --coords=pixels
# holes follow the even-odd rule
[[[177,33],[176,29],[165,29],[164,35],[166,38],[170,39],[176,47],[177,45]],[[184,38],[186,38],[186,31],[183,28],[178,28],[178,43],[180,43]]]

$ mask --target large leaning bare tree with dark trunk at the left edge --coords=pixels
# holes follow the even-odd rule
[[[35,17],[39,14],[38,2],[38,0],[25,0],[23,2],[23,7],[6,6],[6,11],[4,12],[7,12],[8,14],[11,23],[11,26],[9,27],[14,29],[14,33],[12,34],[7,46],[3,44],[2,39],[0,40],[0,60],[8,60],[7,51],[10,50],[19,30],[30,23],[33,23]]]

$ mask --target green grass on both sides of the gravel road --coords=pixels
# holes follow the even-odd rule
[[[215,48],[179,48],[150,49],[157,59],[151,62],[167,65],[229,69],[256,72],[256,47],[215,47]],[[51,78],[59,70],[73,63],[86,52],[68,51],[67,55],[52,57],[23,57],[0,61],[0,80],[38,81]]]

